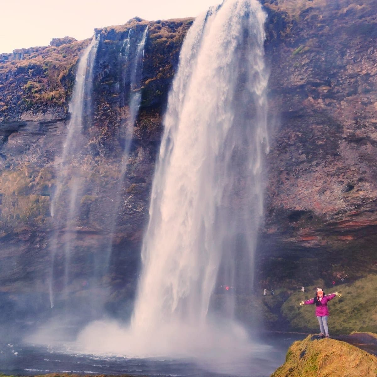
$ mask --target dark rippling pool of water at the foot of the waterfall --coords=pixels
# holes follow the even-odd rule
[[[96,373],[171,376],[269,376],[285,360],[288,347],[304,335],[268,333],[253,354],[244,360],[195,362],[193,359],[126,358],[80,354],[70,345],[31,346],[0,340],[0,372],[35,375],[44,373]],[[259,348],[259,351],[257,350]],[[226,352],[226,351],[224,351]],[[224,355],[224,360],[227,359]]]

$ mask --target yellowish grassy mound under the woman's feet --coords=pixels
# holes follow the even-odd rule
[[[377,374],[377,357],[334,339],[294,342],[285,363],[271,377],[372,377]]]

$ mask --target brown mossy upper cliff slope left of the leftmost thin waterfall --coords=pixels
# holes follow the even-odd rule
[[[0,122],[49,108],[66,112],[74,67],[89,40],[20,50],[20,60],[0,62]]]

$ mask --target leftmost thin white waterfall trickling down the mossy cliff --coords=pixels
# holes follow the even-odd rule
[[[49,295],[51,308],[54,307],[54,264],[58,250],[58,232],[65,226],[64,236],[64,287],[67,293],[69,281],[70,248],[75,238],[75,217],[79,198],[80,162],[75,160],[83,146],[82,131],[86,116],[91,111],[91,92],[93,67],[99,40],[93,36],[92,42],[80,57],[77,66],[74,90],[69,103],[70,120],[68,132],[63,144],[63,152],[55,159],[57,184],[51,201],[51,216],[54,221],[54,233],[50,242],[51,267],[49,276]],[[65,197],[63,198],[63,192]],[[68,199],[65,202],[64,199]]]

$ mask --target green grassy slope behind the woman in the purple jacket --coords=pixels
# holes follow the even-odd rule
[[[315,305],[299,306],[300,301],[314,297],[316,287],[307,288],[305,293],[293,293],[282,305],[282,315],[292,328],[319,332],[315,316]],[[340,284],[324,289],[325,294],[339,291],[342,297],[334,297],[328,308],[330,334],[349,334],[352,331],[377,333],[377,275],[369,275],[349,284]]]

